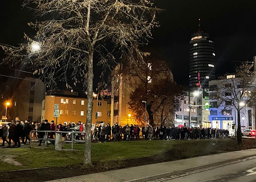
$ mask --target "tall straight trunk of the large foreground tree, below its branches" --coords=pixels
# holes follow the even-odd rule
[[[87,76],[87,112],[85,127],[85,148],[84,148],[84,165],[83,168],[92,166],[92,149],[91,149],[91,128],[92,128],[92,107],[93,107],[93,52],[88,57],[88,76]]]

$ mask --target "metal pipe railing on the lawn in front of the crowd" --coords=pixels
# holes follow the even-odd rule
[[[53,138],[53,135],[56,136],[56,133],[60,133],[63,136],[63,133],[65,134],[64,140],[62,142],[64,143],[71,143],[71,150],[73,151],[74,143],[84,143],[84,140],[77,140],[77,136],[82,136],[85,135],[85,132],[81,131],[30,131],[30,135],[32,136],[32,133],[37,133],[36,138],[30,139],[30,148],[32,148],[32,141],[40,141],[42,140],[44,143],[44,148],[47,147],[48,142],[47,141],[54,141],[54,145],[56,143],[56,137]],[[39,138],[40,135],[39,133],[44,133],[43,138]],[[49,137],[51,133],[54,133],[52,136]],[[79,135],[80,134],[80,135]],[[42,136],[42,135],[41,135]]]

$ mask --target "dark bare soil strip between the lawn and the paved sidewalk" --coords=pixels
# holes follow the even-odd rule
[[[206,142],[188,141],[186,145],[174,145],[172,150],[150,157],[142,157],[128,160],[117,160],[111,162],[95,162],[94,167],[82,170],[80,166],[66,166],[58,168],[46,168],[35,170],[20,170],[11,172],[0,172],[1,182],[44,182],[60,178],[68,178],[72,176],[80,176],[96,172],[115,170],[120,168],[128,168],[158,162],[166,162],[171,160],[180,160],[202,155],[211,155],[216,153],[224,153],[229,151],[238,151],[256,148],[254,139],[244,139],[243,144],[238,146],[236,139],[220,139],[206,140]],[[114,155],[114,154],[113,154]]]

